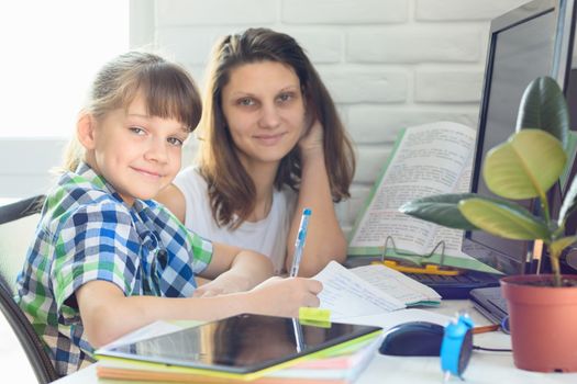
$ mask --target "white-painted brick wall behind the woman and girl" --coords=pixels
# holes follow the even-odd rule
[[[357,150],[349,228],[402,127],[477,125],[489,21],[526,0],[156,0],[155,44],[202,83],[221,35],[295,36],[332,92]],[[187,154],[192,157],[193,149]]]

